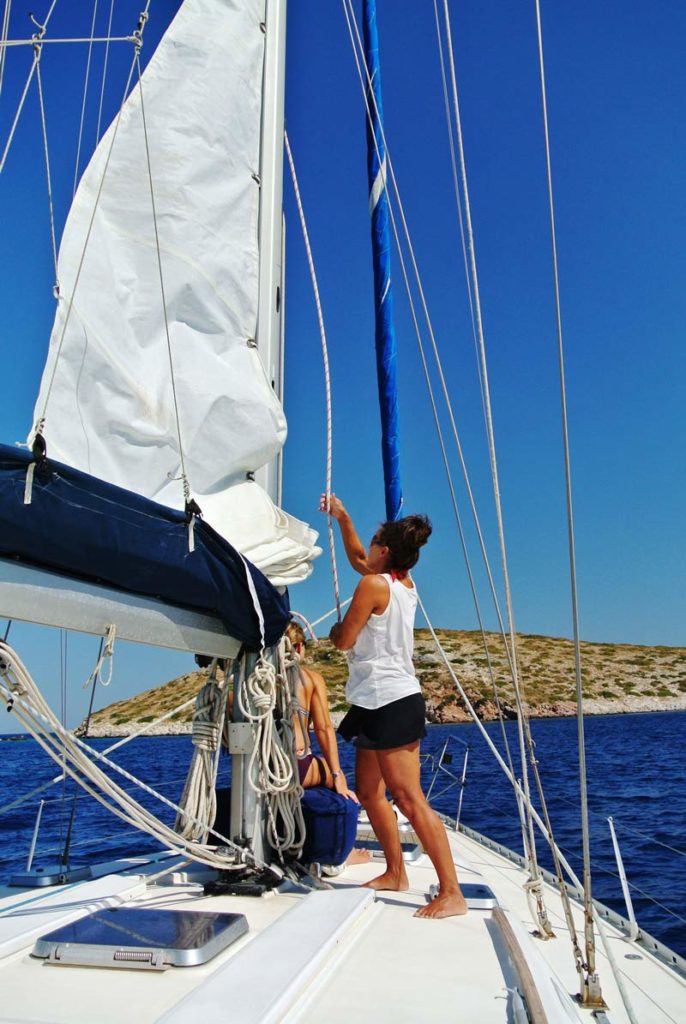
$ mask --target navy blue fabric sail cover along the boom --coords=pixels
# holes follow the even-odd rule
[[[265,643],[281,638],[288,595],[202,519],[189,551],[184,512],[55,462],[48,463],[49,475],[35,473],[25,505],[32,462],[30,453],[0,444],[0,557],[215,614],[230,636],[259,650],[250,572]]]

